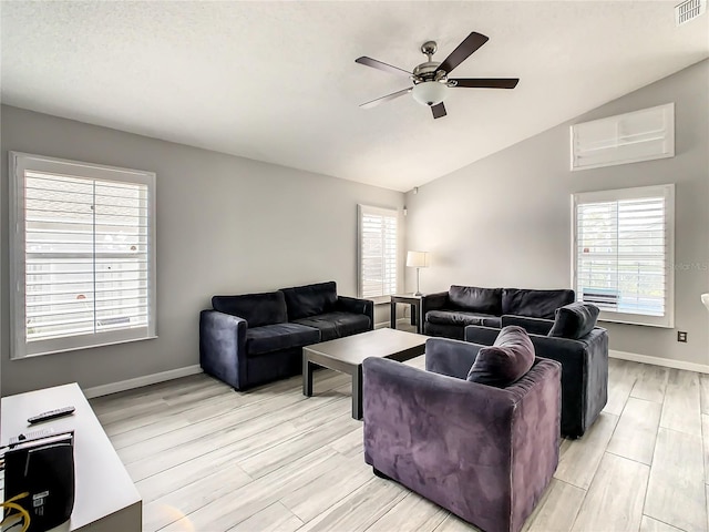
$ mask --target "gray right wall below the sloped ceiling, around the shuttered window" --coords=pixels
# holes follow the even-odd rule
[[[602,83],[603,80],[599,80]],[[571,172],[573,123],[675,102],[676,156]],[[474,142],[474,140],[471,140]],[[612,349],[709,364],[709,61],[643,88],[407,195],[408,249],[433,252],[423,291],[451,284],[571,286],[571,194],[676,183],[676,330],[606,324]],[[408,274],[408,273],[407,273]],[[411,289],[414,277],[407,275]]]

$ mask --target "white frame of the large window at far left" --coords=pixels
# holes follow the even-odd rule
[[[90,349],[115,344],[125,344],[157,338],[157,272],[156,272],[156,202],[154,172],[145,172],[116,166],[107,166],[80,161],[48,157],[10,151],[9,162],[9,217],[10,217],[10,359],[20,360],[37,356]],[[25,171],[48,172],[92,181],[134,183],[147,186],[148,194],[148,247],[147,265],[147,325],[131,329],[104,330],[78,334],[60,338],[28,342],[25,305],[25,216],[24,180]]]

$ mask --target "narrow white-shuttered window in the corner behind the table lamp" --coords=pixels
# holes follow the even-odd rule
[[[383,301],[397,293],[399,213],[359,205],[358,217],[359,297]]]

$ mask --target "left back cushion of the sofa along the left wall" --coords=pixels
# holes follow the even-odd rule
[[[288,321],[286,299],[280,291],[245,294],[242,296],[214,296],[212,306],[219,313],[244,318],[248,321],[249,327]]]

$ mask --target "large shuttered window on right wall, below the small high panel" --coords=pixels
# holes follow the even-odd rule
[[[575,194],[574,288],[600,319],[674,327],[675,185]]]

